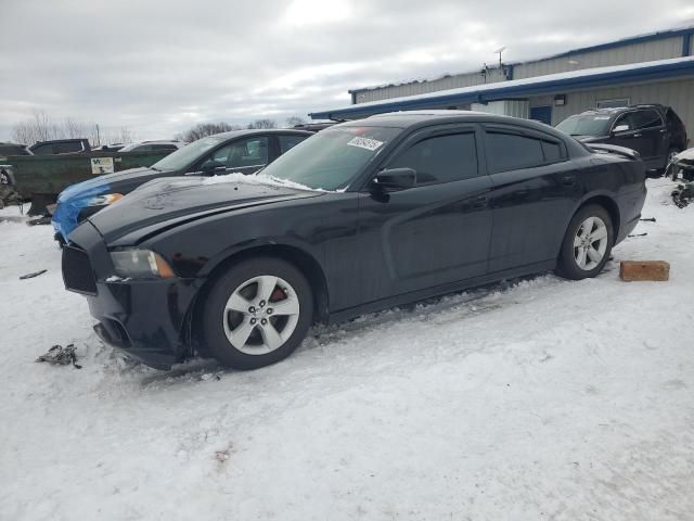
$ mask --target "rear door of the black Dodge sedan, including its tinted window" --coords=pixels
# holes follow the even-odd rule
[[[566,145],[513,125],[487,125],[485,150],[493,182],[489,271],[556,258],[579,179]]]

